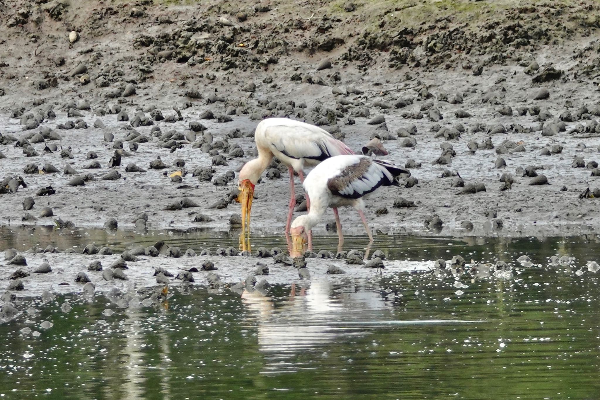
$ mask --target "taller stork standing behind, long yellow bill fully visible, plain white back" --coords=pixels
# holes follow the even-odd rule
[[[260,122],[254,133],[254,141],[259,157],[248,161],[239,172],[238,201],[242,204],[242,233],[245,226],[250,232],[250,209],[254,196],[254,185],[277,157],[290,173],[290,204],[287,214],[286,234],[289,233],[293,207],[296,204],[294,191],[294,172],[300,181],[304,181],[303,170],[307,166],[315,166],[329,157],[341,154],[354,154],[344,143],[334,139],[327,131],[287,118],[269,118]],[[308,199],[307,199],[308,200]],[[310,203],[307,204],[310,207]]]

